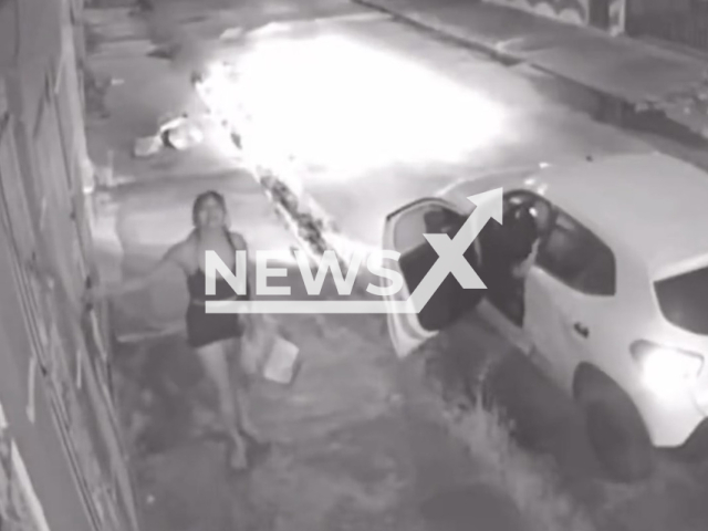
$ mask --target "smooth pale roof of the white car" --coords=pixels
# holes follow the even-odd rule
[[[708,174],[662,154],[551,166],[527,181],[655,280],[708,262]],[[700,263],[699,263],[700,262]]]

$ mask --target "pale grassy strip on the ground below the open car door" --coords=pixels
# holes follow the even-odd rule
[[[426,376],[440,397],[442,415],[452,436],[462,441],[470,458],[483,470],[482,479],[507,493],[529,531],[595,531],[591,518],[561,485],[555,462],[524,451],[514,440],[513,423],[488,399],[479,399],[485,385],[466,382],[476,374],[491,376],[500,355],[478,352],[473,366],[459,365],[445,333],[423,345]],[[513,355],[513,354],[511,354]],[[470,374],[471,373],[471,374]],[[487,398],[487,397],[485,397]]]

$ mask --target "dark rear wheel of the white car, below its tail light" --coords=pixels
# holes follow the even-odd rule
[[[590,444],[613,479],[646,479],[654,469],[654,448],[632,399],[600,373],[581,386],[577,398],[585,414]]]

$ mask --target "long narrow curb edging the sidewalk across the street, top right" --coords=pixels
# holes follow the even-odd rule
[[[525,64],[532,66],[533,69],[542,72],[544,74],[552,75],[559,80],[562,80],[565,83],[573,84],[577,87],[581,87],[584,91],[587,91],[595,95],[600,101],[600,112],[596,116],[596,119],[602,122],[607,122],[614,125],[629,125],[631,123],[639,122],[642,123],[644,118],[650,117],[654,121],[659,121],[667,125],[668,129],[674,129],[674,134],[681,135],[684,137],[693,137],[696,140],[707,143],[708,142],[708,132],[701,132],[694,127],[690,127],[683,122],[671,118],[665,111],[662,110],[643,110],[642,102],[634,102],[622,96],[617,96],[615,94],[585,85],[583,83],[577,82],[562,73],[544,67],[540,64],[533,63],[529,61],[523,55],[510,53],[499,48],[490,44],[489,42],[485,42],[482,40],[473,40],[469,35],[459,35],[451,32],[449,29],[438,25],[435,21],[427,20],[428,18],[425,15],[418,15],[415,12],[405,13],[395,8],[389,8],[386,6],[382,6],[381,3],[373,0],[352,0],[354,3],[361,4],[368,9],[386,13],[391,15],[394,20],[398,22],[406,23],[419,30],[423,30],[428,33],[435,34],[438,39],[451,42],[461,48],[466,48],[468,50],[473,50],[477,52],[482,52],[487,56],[507,65],[513,66],[519,64]],[[638,119],[637,119],[638,118]]]

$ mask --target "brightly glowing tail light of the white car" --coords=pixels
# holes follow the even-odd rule
[[[642,379],[654,388],[673,388],[696,379],[704,367],[704,356],[680,348],[637,341],[632,356],[642,372]]]

